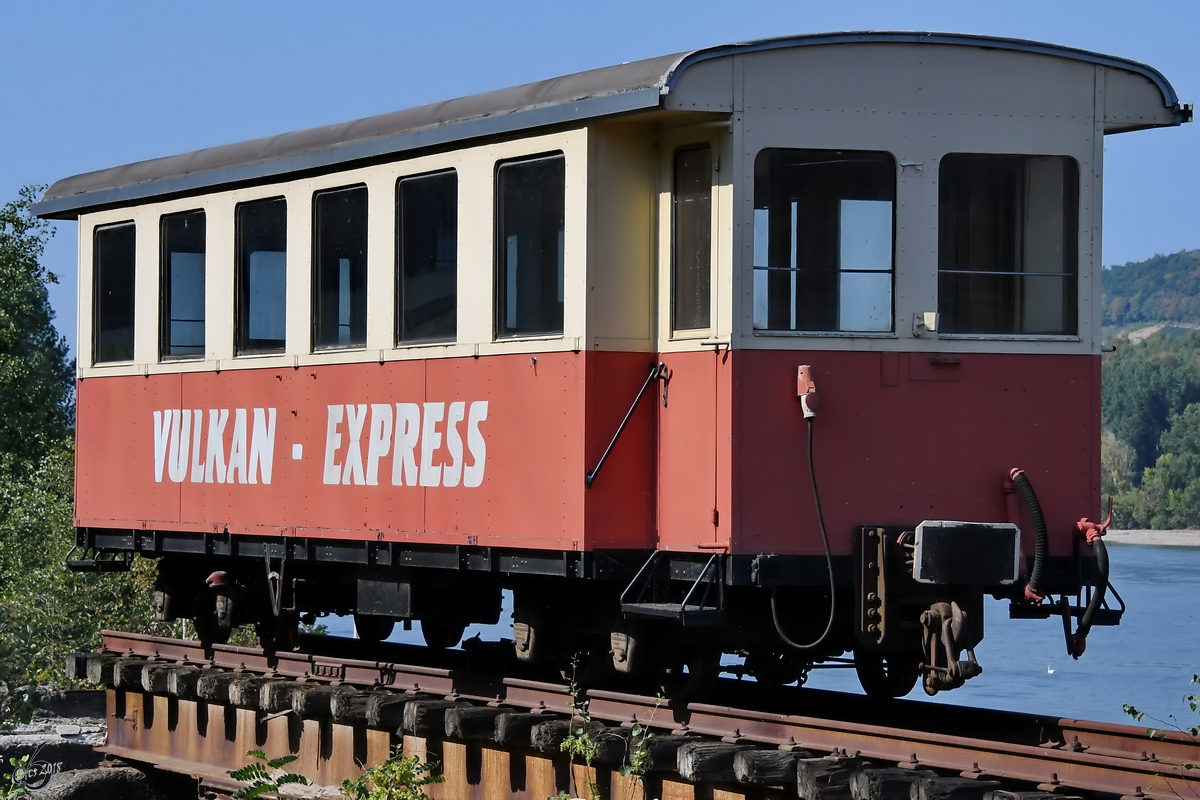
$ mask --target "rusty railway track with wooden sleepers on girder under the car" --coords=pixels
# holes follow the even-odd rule
[[[359,645],[307,637],[302,652],[205,651],[106,632],[102,648],[77,654],[68,669],[108,690],[107,754],[194,775],[215,795],[236,788],[228,771],[245,765],[248,750],[296,753],[289,769],[336,786],[402,741],[444,764],[440,800],[542,800],[584,780],[634,796],[618,792],[628,778],[611,768],[640,723],[659,734],[644,796],[662,800],[698,798],[701,786],[734,794],[784,786],[780,796],[802,798],[1200,798],[1200,769],[1187,766],[1200,762],[1200,746],[1178,733],[1154,739],[1130,726],[736,680],[721,681],[714,703],[604,690],[572,697],[562,682],[522,672],[505,654],[511,648],[374,645],[368,654]],[[599,739],[613,745],[580,777],[558,745],[582,699]]]

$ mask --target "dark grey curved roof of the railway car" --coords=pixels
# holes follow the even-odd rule
[[[1166,78],[1152,67],[1127,59],[1055,44],[966,34],[814,34],[664,55],[353,122],[84,173],[55,182],[34,210],[41,217],[74,218],[90,209],[260,182],[289,173],[346,167],[480,137],[654,109],[661,107],[676,82],[694,64],[739,53],[842,43],[962,44],[1118,67],[1150,79],[1163,94],[1164,106],[1176,109],[1176,122],[1186,121]]]

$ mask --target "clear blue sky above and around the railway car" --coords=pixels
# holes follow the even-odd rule
[[[580,70],[833,30],[991,34],[1160,70],[1200,101],[1195,0],[10,2],[0,201],[26,184]],[[1109,137],[1104,263],[1200,247],[1200,122]],[[47,265],[74,343],[76,225]]]

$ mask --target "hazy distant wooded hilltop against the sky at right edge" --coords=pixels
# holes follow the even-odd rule
[[[1104,270],[1104,324],[1200,321],[1200,249]]]

